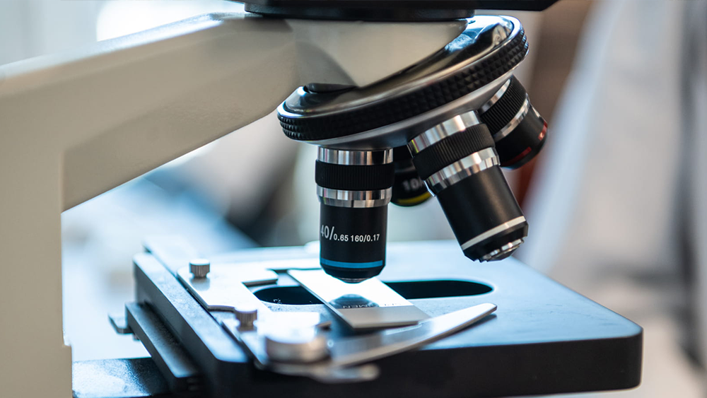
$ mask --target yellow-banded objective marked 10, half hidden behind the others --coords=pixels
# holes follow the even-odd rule
[[[393,148],[393,165],[395,166],[395,182],[393,184],[392,203],[398,206],[417,206],[432,197],[427,185],[412,163],[412,156],[407,146]]]

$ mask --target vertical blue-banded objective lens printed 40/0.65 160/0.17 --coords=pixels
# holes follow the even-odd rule
[[[392,149],[319,148],[320,264],[327,274],[348,283],[380,274],[394,175]]]

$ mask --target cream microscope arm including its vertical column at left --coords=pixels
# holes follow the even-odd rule
[[[62,211],[267,115],[297,86],[373,83],[464,26],[214,14],[0,66],[4,394],[71,394]]]

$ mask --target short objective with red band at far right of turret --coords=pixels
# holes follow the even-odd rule
[[[530,104],[525,88],[515,76],[481,106],[479,117],[496,141],[502,167],[520,168],[545,144],[547,122]]]

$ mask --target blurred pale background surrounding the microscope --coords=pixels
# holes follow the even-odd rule
[[[0,64],[242,9],[4,0]],[[645,328],[643,385],[607,395],[706,396],[707,2],[562,0],[513,15],[531,49],[518,77],[550,126],[536,160],[507,173],[530,223],[515,256]],[[317,240],[314,160],[269,115],[64,212],[74,360],[146,356],[106,316],[132,299],[131,259],[146,236],[185,236],[205,256]],[[453,238],[435,200],[391,205],[388,234]]]

